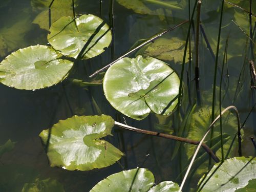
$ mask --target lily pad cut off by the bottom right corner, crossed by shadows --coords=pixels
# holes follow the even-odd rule
[[[227,159],[222,164],[215,164],[210,172],[201,178],[199,188],[202,188],[201,191],[235,191],[236,189],[242,189],[250,181],[255,182],[255,167],[255,157]],[[252,186],[252,183],[250,185]]]

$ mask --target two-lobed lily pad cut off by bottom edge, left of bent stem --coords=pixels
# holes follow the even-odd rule
[[[122,172],[110,175],[106,179],[98,182],[90,192],[98,191],[178,191],[178,184],[172,181],[164,181],[154,185],[155,178],[150,170],[146,168],[135,168],[123,170]],[[151,188],[152,187],[152,188]]]

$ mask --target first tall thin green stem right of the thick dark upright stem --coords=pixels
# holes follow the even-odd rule
[[[222,0],[221,5],[221,17],[220,17],[220,25],[219,25],[219,33],[218,33],[218,42],[217,42],[217,51],[216,51],[216,59],[215,59],[215,70],[214,70],[214,90],[212,92],[212,106],[211,106],[211,122],[214,121],[215,118],[215,94],[216,94],[216,79],[217,79],[217,66],[218,66],[218,57],[219,57],[219,49],[220,49],[220,39],[221,39],[221,26],[222,26],[222,16],[223,16],[223,7],[224,0]],[[211,130],[210,139],[214,136],[214,130]],[[210,147],[212,146],[212,142],[210,142]],[[211,164],[211,159],[209,159],[209,165]]]

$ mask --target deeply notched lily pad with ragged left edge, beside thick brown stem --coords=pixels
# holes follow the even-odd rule
[[[110,116],[73,116],[60,120],[51,131],[44,130],[39,136],[44,145],[49,143],[47,156],[51,166],[91,170],[109,166],[122,157],[116,147],[100,140],[111,135],[113,126]]]

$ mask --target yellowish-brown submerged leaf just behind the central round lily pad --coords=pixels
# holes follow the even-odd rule
[[[176,63],[182,63],[184,47],[185,41],[179,38],[159,38],[151,44],[144,46],[136,55],[151,56],[162,60],[174,60]],[[187,50],[185,62],[189,61],[188,58],[189,52]]]

